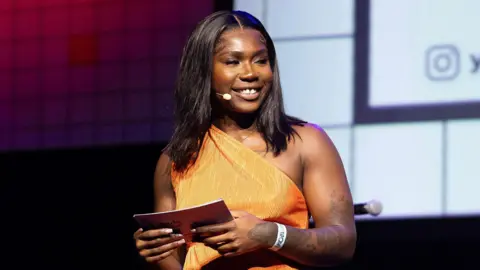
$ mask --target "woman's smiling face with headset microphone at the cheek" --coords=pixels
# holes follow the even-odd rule
[[[265,100],[273,78],[262,34],[237,28],[220,37],[213,58],[212,87],[224,108],[253,113]],[[230,94],[225,100],[221,95]]]

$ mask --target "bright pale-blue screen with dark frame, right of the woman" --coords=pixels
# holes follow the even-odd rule
[[[384,218],[480,212],[475,0],[236,0],[267,27],[287,111],[324,127]]]

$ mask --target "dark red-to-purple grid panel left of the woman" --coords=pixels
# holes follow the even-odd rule
[[[0,1],[0,150],[165,141],[201,0]]]

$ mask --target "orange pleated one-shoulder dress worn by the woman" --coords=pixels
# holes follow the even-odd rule
[[[205,136],[195,165],[186,174],[173,172],[172,184],[177,209],[222,198],[230,210],[246,211],[297,228],[308,227],[305,198],[295,183],[262,156],[214,126]],[[202,243],[190,244],[184,269],[212,268],[295,269],[295,266],[269,250],[226,259]]]

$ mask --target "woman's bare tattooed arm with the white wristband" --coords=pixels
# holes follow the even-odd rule
[[[328,136],[319,128],[299,130],[303,192],[315,228],[287,226],[283,248],[277,252],[301,264],[330,266],[350,260],[356,246],[352,196],[341,159]],[[249,233],[272,246],[277,238],[275,223],[258,224]],[[257,239],[260,240],[260,239]]]

